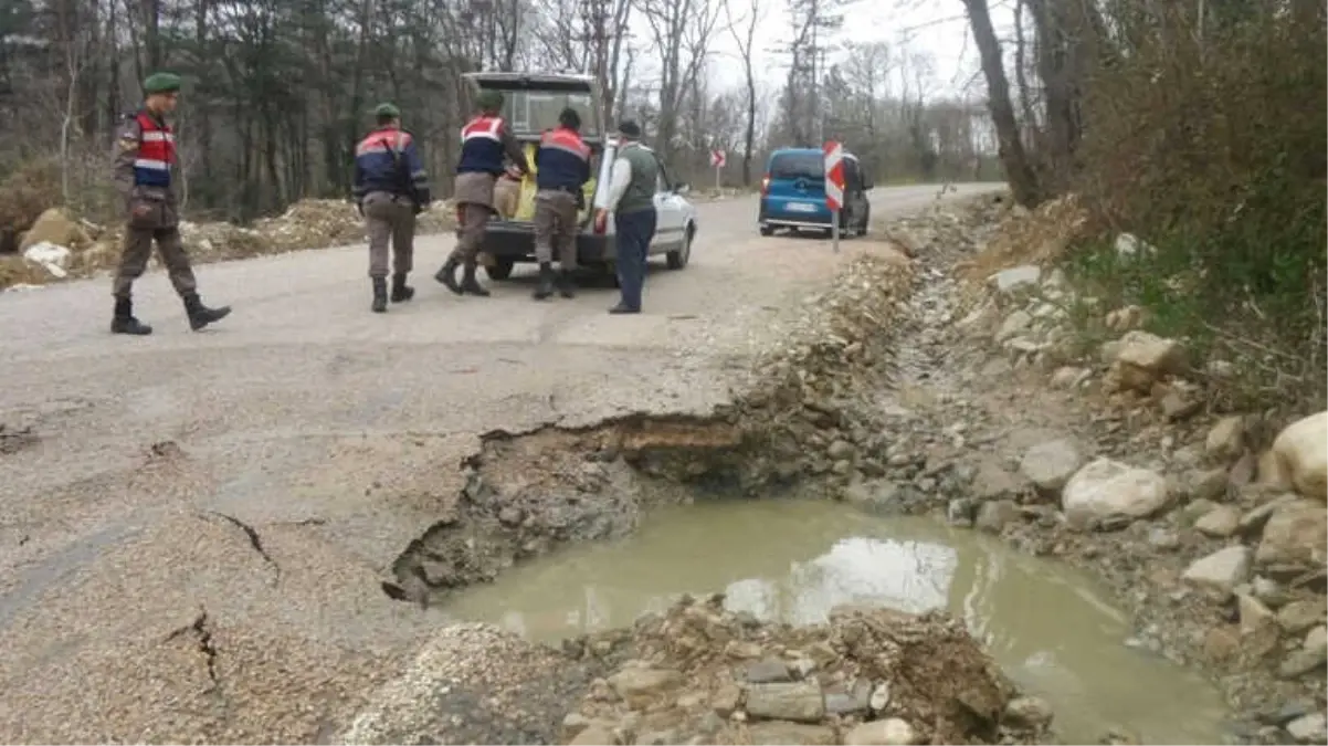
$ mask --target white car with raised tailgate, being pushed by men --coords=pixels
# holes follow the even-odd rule
[[[598,174],[595,192],[587,202],[592,208],[582,212],[582,230],[576,239],[576,263],[600,268],[611,275],[616,256],[614,220],[596,230],[595,208],[607,207],[608,182],[618,153],[614,137],[606,137],[603,100],[590,76],[551,73],[466,73],[475,92],[497,90],[503,94],[502,117],[522,143],[538,143],[544,130],[558,126],[558,114],[564,108],[575,109],[582,117],[582,138],[595,154]],[[534,165],[534,163],[533,163]],[[651,256],[663,254],[669,269],[687,267],[696,238],[696,206],[687,200],[689,187],[675,182],[668,169],[659,163],[660,177],[655,192],[659,223],[651,240]],[[489,223],[481,251],[493,263],[486,267],[490,277],[505,280],[518,261],[535,261],[535,234],[530,220],[494,216]]]

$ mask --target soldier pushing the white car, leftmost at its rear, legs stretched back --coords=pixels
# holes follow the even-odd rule
[[[521,174],[530,173],[526,154],[502,119],[502,94],[497,90],[479,93],[479,115],[461,129],[461,159],[457,163],[457,216],[461,238],[448,261],[434,279],[449,291],[462,295],[487,296],[475,279],[475,254],[485,240],[485,228],[494,212],[494,185],[503,173],[506,155]],[[457,284],[457,267],[465,265],[465,276]]]

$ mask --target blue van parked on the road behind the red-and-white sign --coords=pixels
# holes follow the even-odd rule
[[[821,149],[786,147],[772,153],[761,181],[757,215],[761,235],[773,235],[778,228],[829,234],[825,179],[825,154]],[[839,230],[846,236],[866,235],[871,220],[871,202],[867,199],[871,179],[862,173],[858,157],[851,153],[843,154],[843,182]]]

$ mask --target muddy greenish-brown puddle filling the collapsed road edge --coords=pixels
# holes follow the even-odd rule
[[[575,547],[458,596],[452,615],[533,640],[623,627],[677,593],[724,591],[734,609],[817,623],[858,603],[963,616],[1007,673],[1046,697],[1069,743],[1110,723],[1146,743],[1220,742],[1204,681],[1127,649],[1123,615],[1081,573],[927,519],[821,502],[704,503],[655,514],[616,544]]]

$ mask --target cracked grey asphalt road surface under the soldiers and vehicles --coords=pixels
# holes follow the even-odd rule
[[[936,196],[878,188],[874,214]],[[641,316],[608,316],[603,285],[535,303],[530,268],[458,299],[432,279],[449,236],[417,242],[416,299],[386,315],[363,246],[198,267],[235,307],[202,333],[161,272],[137,287],[145,338],[109,335],[109,279],[0,295],[0,425],[32,429],[0,451],[5,742],[343,727],[446,623],[380,583],[478,434],[708,411],[871,248],[760,238],[754,198],[699,210],[691,265],[652,267]]]

